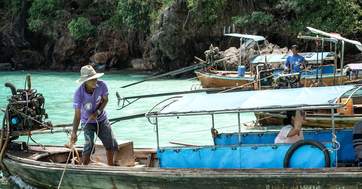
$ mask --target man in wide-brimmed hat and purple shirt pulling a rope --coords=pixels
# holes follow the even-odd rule
[[[90,154],[94,153],[94,133],[101,139],[106,149],[108,165],[113,166],[114,151],[118,151],[118,143],[113,135],[110,123],[104,109],[108,102],[108,88],[103,80],[98,80],[102,74],[97,74],[92,66],[83,66],[80,70],[83,82],[74,93],[72,142],[77,141],[77,130],[81,122],[84,131],[83,164],[88,165]]]

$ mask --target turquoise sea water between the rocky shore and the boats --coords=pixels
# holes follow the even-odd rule
[[[109,90],[109,102],[106,106],[108,118],[118,118],[136,113],[145,113],[157,102],[169,96],[141,98],[131,105],[117,110],[116,92],[121,97],[131,97],[138,95],[152,95],[168,92],[190,91],[193,84],[198,84],[197,79],[155,79],[132,85],[127,88],[120,88],[124,85],[134,83],[152,77],[148,72],[135,71],[105,71],[100,77],[106,81]],[[8,104],[7,96],[11,95],[10,88],[5,87],[5,82],[11,82],[16,88],[24,88],[26,75],[31,74],[31,88],[37,89],[37,93],[42,93],[45,97],[46,113],[53,125],[62,123],[72,123],[74,116],[73,94],[80,83],[80,72],[51,72],[51,71],[12,71],[0,72],[0,108],[5,109]],[[28,85],[26,85],[28,88]],[[176,95],[174,95],[176,96]],[[180,96],[180,95],[177,95]],[[218,99],[210,103],[218,103]],[[122,104],[122,102],[121,102]],[[4,113],[0,112],[3,118]],[[255,120],[253,113],[241,114],[242,122]],[[219,133],[234,133],[238,131],[237,115],[224,114],[214,116],[215,128]],[[251,123],[247,123],[251,124]],[[159,119],[159,143],[160,147],[175,146],[169,141],[212,145],[210,128],[212,127],[211,116],[182,116],[180,118],[160,118]],[[226,128],[222,128],[226,127]],[[155,148],[156,133],[154,126],[148,122],[147,118],[135,118],[120,121],[112,125],[115,137],[118,140],[132,140],[134,147]],[[249,127],[243,126],[242,131],[251,131]],[[33,135],[32,138],[44,145],[63,145],[69,141],[66,133]],[[98,139],[99,140],[99,139]],[[28,137],[23,136],[17,141],[28,141]],[[34,144],[29,140],[29,144]],[[83,146],[83,133],[78,137],[77,146]]]

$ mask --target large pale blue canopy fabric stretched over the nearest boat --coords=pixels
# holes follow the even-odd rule
[[[235,110],[267,106],[329,105],[354,85],[187,95],[159,113]]]

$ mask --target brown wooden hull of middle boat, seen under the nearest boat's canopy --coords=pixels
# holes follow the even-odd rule
[[[255,117],[261,119],[259,123],[262,123],[263,126],[269,126],[270,124],[274,125],[283,125],[283,119],[286,118],[285,115],[280,113],[273,112],[254,112]],[[313,116],[313,114],[307,114],[307,123],[303,123],[303,126],[310,127],[332,127],[331,115],[319,115]],[[334,127],[353,127],[355,123],[362,119],[361,114],[344,114],[334,117]]]

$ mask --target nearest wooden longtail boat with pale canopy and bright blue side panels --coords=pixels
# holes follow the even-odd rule
[[[60,188],[358,188],[362,185],[362,168],[351,167],[354,153],[353,148],[350,148],[350,129],[334,130],[334,124],[331,123],[332,129],[329,131],[320,129],[306,134],[313,135],[310,139],[294,144],[274,144],[271,140],[275,133],[241,133],[240,116],[243,112],[293,109],[329,109],[334,112],[334,109],[346,106],[346,103],[334,99],[348,91],[353,95],[360,88],[344,85],[186,95],[177,100],[167,99],[168,101],[159,103],[166,104],[164,108],[150,113],[157,104],[146,113],[146,117],[156,128],[157,149],[135,149],[127,156],[132,159],[135,157],[136,161],[141,160],[146,166],[71,165],[67,158],[71,150],[66,147],[45,146],[44,149],[30,146],[26,149],[23,142],[9,143],[6,150],[3,147],[5,154],[1,169],[4,175],[17,175],[39,188],[57,188],[59,183]],[[292,95],[320,93],[324,94],[323,99],[311,98],[308,99],[308,104],[303,103],[305,100],[299,96]],[[266,94],[268,98],[260,98]],[[280,95],[290,96],[290,102],[283,99],[270,100]],[[13,95],[12,99],[16,100],[18,96]],[[219,104],[206,103],[215,98],[219,99]],[[216,132],[215,145],[159,146],[159,125],[168,124],[169,121],[164,117],[173,117],[178,121],[179,116],[210,115],[214,118],[216,114],[230,113],[238,115],[236,122],[239,124],[239,132],[230,136],[218,135]],[[331,114],[332,118],[337,114]],[[163,123],[163,120],[168,121]],[[210,125],[214,132],[213,120]],[[54,133],[54,130],[19,132],[12,129],[14,123],[9,124],[5,125],[5,129],[9,128],[10,136],[13,137],[45,131]],[[332,139],[331,133],[337,135],[336,140]],[[133,149],[133,146],[129,149]],[[82,149],[76,147],[75,150],[81,156]]]

